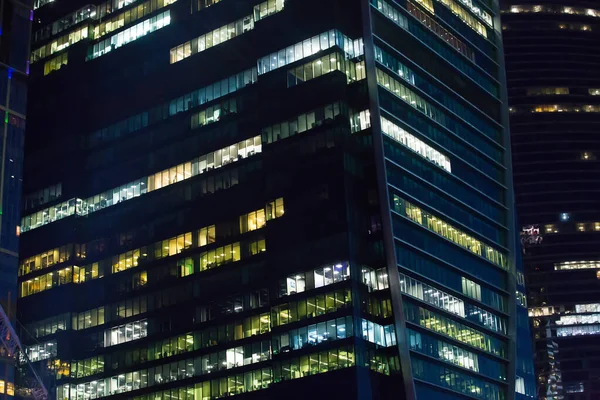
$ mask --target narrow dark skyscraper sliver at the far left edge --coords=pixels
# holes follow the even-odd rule
[[[0,1],[0,304],[14,322],[31,5]],[[15,394],[15,365],[0,352],[0,399]]]

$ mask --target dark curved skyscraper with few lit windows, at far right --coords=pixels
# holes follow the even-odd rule
[[[600,6],[503,5],[516,206],[540,399],[600,398]]]

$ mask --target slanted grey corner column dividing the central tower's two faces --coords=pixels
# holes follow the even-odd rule
[[[402,374],[405,391],[404,398],[407,400],[412,400],[416,399],[416,393],[410,362],[410,352],[406,337],[404,306],[402,303],[402,295],[400,293],[400,276],[398,274],[398,266],[396,264],[396,251],[392,230],[392,214],[387,188],[383,137],[381,134],[381,114],[379,112],[379,95],[377,89],[377,67],[375,64],[373,21],[371,18],[371,5],[369,0],[362,0],[362,14],[365,46],[365,69],[367,88],[369,92],[369,112],[371,114],[371,132],[373,135],[373,151],[375,153],[377,192],[379,196],[379,209],[381,210],[381,226],[385,249],[386,268],[390,284],[392,309],[394,311],[394,327],[396,330],[396,341],[398,343],[398,354],[400,355],[400,373]]]

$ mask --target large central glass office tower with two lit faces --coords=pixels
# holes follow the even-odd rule
[[[36,13],[19,315],[58,399],[514,397],[497,4]]]

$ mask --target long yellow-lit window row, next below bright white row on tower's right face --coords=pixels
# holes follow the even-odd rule
[[[437,233],[463,249],[485,258],[502,269],[508,269],[507,259],[503,253],[396,195],[394,195],[393,209],[403,217]]]

